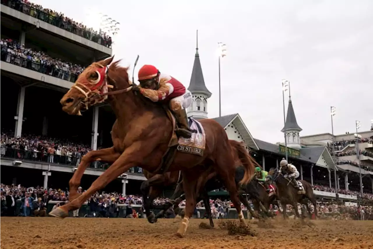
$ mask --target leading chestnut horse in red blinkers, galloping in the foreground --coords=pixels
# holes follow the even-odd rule
[[[169,150],[169,143],[174,135],[174,122],[162,105],[133,92],[132,82],[128,79],[128,68],[120,67],[119,61],[112,61],[113,57],[109,57],[93,62],[78,76],[75,84],[60,100],[63,111],[70,115],[81,115],[82,110],[108,99],[116,115],[116,121],[111,133],[113,147],[90,151],[82,157],[78,169],[69,181],[69,202],[51,211],[51,216],[65,218],[69,210],[80,208],[96,191],[104,188],[131,167],[142,167],[153,173],[160,173],[157,171],[163,168],[163,157]],[[185,217],[176,233],[179,237],[185,236],[194,211],[195,187],[204,165],[213,165],[229,191],[240,222],[247,225],[239,202],[235,183],[235,162],[227,134],[215,120],[203,119],[200,123],[206,136],[203,156],[176,152],[172,164],[164,170],[182,170],[186,206]],[[85,169],[89,163],[100,160],[112,165],[87,191],[79,195],[77,188]],[[250,182],[253,174],[254,167],[247,165],[241,184]]]

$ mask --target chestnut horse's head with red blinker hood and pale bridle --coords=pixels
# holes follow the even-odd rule
[[[118,62],[110,65],[113,58],[114,56],[102,61],[93,62],[79,74],[75,84],[73,84],[60,100],[63,111],[70,115],[81,115],[81,111],[85,111],[95,104],[104,102],[109,94],[119,92],[109,92],[109,89],[115,87],[113,84],[117,82],[116,78],[118,77],[114,73],[115,69],[119,68],[117,66]],[[125,78],[124,80],[128,84],[127,69],[123,68],[123,72],[120,71],[120,74],[120,77]],[[128,91],[130,89],[131,87],[128,86],[122,90]]]

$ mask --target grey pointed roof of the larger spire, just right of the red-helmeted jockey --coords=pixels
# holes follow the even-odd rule
[[[193,64],[192,76],[190,78],[188,90],[191,91],[191,93],[202,93],[206,95],[207,98],[211,97],[211,92],[207,89],[205,85],[205,81],[203,79],[200,55],[198,54],[198,30],[197,30],[197,47],[195,48],[194,64]]]

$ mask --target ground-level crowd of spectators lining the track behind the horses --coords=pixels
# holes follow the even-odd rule
[[[325,186],[315,185],[315,190],[330,191]],[[341,191],[344,194],[357,195],[354,191]],[[372,198],[372,195],[369,195]],[[21,209],[18,215],[20,216],[46,216],[47,203],[49,201],[57,201],[53,206],[53,209],[58,207],[61,203],[68,202],[68,192],[60,189],[44,189],[43,187],[29,187],[25,188],[21,185],[4,185],[0,184],[0,215],[15,216],[17,215],[16,201],[21,201]],[[154,205],[163,205],[168,201],[167,198],[157,198],[154,200]],[[142,197],[135,195],[122,196],[118,193],[96,193],[87,203],[89,212],[85,215],[88,217],[118,217],[119,204],[126,204],[126,216],[128,218],[139,218],[142,212],[136,212],[132,209],[133,205],[142,205]],[[185,202],[182,202],[180,206],[185,206]],[[197,203],[197,209],[195,210],[195,217],[203,218],[198,211],[198,207],[204,207],[203,202]],[[233,205],[229,200],[210,200],[211,213],[214,219],[224,218],[228,215],[229,208]],[[313,205],[310,205],[311,212],[313,212]],[[301,212],[301,206],[298,205],[298,209]],[[318,213],[320,218],[331,218],[331,219],[355,219],[355,220],[372,220],[373,219],[373,208],[372,206],[345,206],[335,203],[322,203],[319,202]],[[281,212],[277,210],[277,207],[271,206],[271,210],[275,212]],[[288,206],[287,211],[289,215],[294,215],[292,206]],[[206,216],[206,212],[205,212]]]

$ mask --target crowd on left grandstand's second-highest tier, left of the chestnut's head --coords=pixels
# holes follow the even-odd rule
[[[28,68],[53,77],[75,82],[84,70],[81,65],[51,58],[44,52],[34,51],[12,39],[0,39],[0,61]]]

